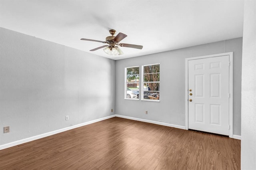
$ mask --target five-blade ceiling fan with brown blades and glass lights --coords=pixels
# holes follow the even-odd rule
[[[137,49],[142,49],[142,45],[134,45],[134,44],[128,44],[128,43],[119,43],[121,40],[127,37],[127,35],[123,33],[118,33],[117,36],[114,36],[116,33],[116,30],[109,30],[109,33],[112,36],[106,37],[106,42],[103,41],[98,41],[98,40],[91,40],[91,39],[86,39],[86,38],[81,38],[80,40],[86,40],[86,41],[92,41],[92,42],[101,42],[101,43],[107,43],[108,45],[103,45],[101,47],[97,47],[94,49],[91,49],[90,51],[95,51],[97,49],[104,48],[103,51],[107,53],[108,55],[122,55],[124,54],[121,49],[116,46],[119,45],[120,47],[130,47],[130,48],[137,48]]]

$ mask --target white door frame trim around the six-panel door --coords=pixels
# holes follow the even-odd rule
[[[229,137],[233,138],[233,52],[228,53],[220,53],[220,54],[213,54],[213,55],[204,55],[200,57],[191,57],[186,58],[185,63],[185,129],[188,130],[188,61],[194,59],[203,59],[203,58],[210,58],[210,57],[220,57],[224,55],[229,55],[230,67],[229,67]]]

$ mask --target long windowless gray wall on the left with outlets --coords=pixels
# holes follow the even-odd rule
[[[0,28],[0,145],[107,117],[114,107],[114,60]]]

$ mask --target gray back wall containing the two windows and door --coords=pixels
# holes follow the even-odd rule
[[[116,61],[116,114],[185,126],[185,58],[231,51],[234,52],[233,133],[240,135],[242,38]],[[125,67],[154,63],[160,63],[160,102],[124,99]]]

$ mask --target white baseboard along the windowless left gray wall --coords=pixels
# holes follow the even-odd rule
[[[64,132],[64,131],[67,131],[67,130],[71,130],[73,128],[78,128],[78,127],[82,127],[82,126],[89,125],[89,124],[92,124],[92,123],[96,123],[96,122],[99,122],[99,121],[103,121],[103,120],[106,120],[106,119],[110,119],[112,117],[116,117],[116,115],[103,117],[103,118],[100,118],[100,119],[96,119],[96,120],[93,120],[93,121],[81,123],[81,124],[74,125],[74,126],[71,126],[71,127],[66,127],[66,128],[54,130],[52,132],[47,132],[47,133],[44,133],[44,134],[39,134],[39,135],[32,136],[32,137],[29,137],[29,138],[25,138],[25,139],[17,140],[17,141],[10,142],[10,143],[7,143],[7,144],[3,144],[3,145],[0,145],[0,150],[5,149],[5,148],[10,148],[12,146],[16,146],[16,145],[19,145],[19,144],[23,144],[23,143],[26,143],[26,142],[30,142],[32,140],[37,140],[37,139],[40,139],[40,138],[44,138],[46,136],[51,136],[53,134],[57,134],[57,133]]]

